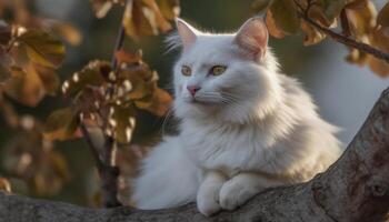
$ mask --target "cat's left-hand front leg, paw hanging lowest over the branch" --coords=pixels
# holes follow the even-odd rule
[[[217,171],[209,171],[205,174],[197,192],[197,208],[202,214],[211,215],[221,210],[219,192],[226,181],[227,178]]]

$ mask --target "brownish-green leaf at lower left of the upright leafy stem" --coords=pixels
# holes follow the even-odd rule
[[[57,110],[49,115],[44,124],[43,135],[48,140],[71,139],[79,123],[79,113],[71,108]]]

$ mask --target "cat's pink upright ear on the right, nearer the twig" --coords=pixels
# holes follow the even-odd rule
[[[269,32],[261,18],[251,18],[240,27],[235,43],[251,59],[265,56]]]

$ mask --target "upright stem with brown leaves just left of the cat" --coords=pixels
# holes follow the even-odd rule
[[[107,14],[107,9],[114,3],[124,7],[111,62],[90,61],[66,80],[62,92],[71,99],[71,109],[58,110],[47,121],[49,128],[46,135],[53,140],[72,138],[77,128],[80,129],[94,158],[100,175],[102,202],[107,208],[121,205],[118,200],[120,172],[116,165],[116,151],[119,144],[129,144],[131,141],[138,109],[163,115],[171,102],[171,97],[158,88],[158,74],[142,61],[141,51],[130,54],[122,50],[126,33],[138,39],[147,33],[157,34],[156,30],[167,31],[171,28],[157,2],[164,1],[92,1],[98,17]],[[164,2],[164,12],[177,7],[174,2],[166,4],[167,2],[170,1]],[[149,11],[144,12],[144,8]],[[142,16],[141,20],[133,20],[132,13],[151,12],[154,17]],[[70,124],[73,122],[76,124]],[[99,135],[91,133],[96,129]],[[103,139],[103,144],[96,144],[97,137]]]

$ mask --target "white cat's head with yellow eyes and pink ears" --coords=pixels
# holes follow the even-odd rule
[[[245,123],[275,109],[277,61],[260,18],[230,34],[201,32],[180,19],[177,30],[168,43],[182,49],[173,70],[179,118]]]

